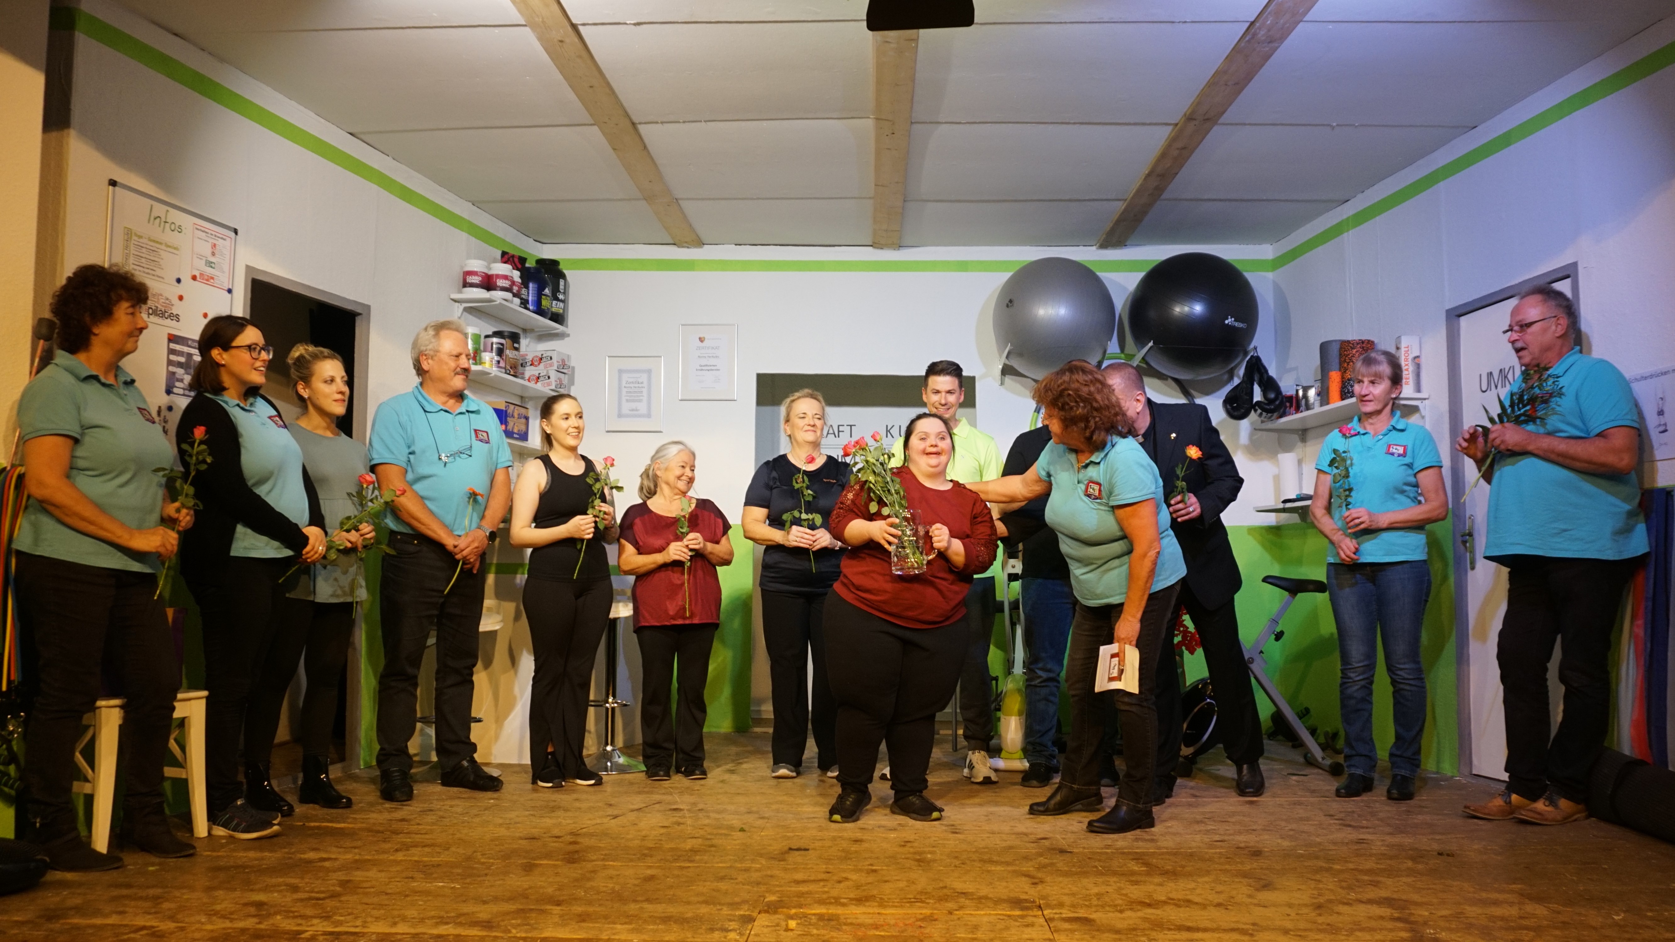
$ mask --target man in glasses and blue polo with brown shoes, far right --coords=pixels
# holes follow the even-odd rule
[[[1502,423],[1487,435],[1466,428],[1454,445],[1492,485],[1484,557],[1509,571],[1496,646],[1508,786],[1466,813],[1563,825],[1588,817],[1588,773],[1611,714],[1611,627],[1647,554],[1635,480],[1640,417],[1623,373],[1581,353],[1564,293],[1541,284],[1519,294],[1506,335],[1526,370],[1508,400],[1533,380],[1553,397],[1544,422]],[[1546,380],[1529,370],[1546,370]],[[1556,641],[1564,716],[1553,731],[1548,661]]]

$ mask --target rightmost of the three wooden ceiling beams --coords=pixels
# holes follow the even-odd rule
[[[1221,115],[1228,114],[1245,87],[1268,65],[1273,54],[1280,50],[1280,45],[1290,38],[1291,30],[1303,22],[1313,7],[1315,0],[1268,0],[1268,5],[1245,28],[1240,42],[1233,44],[1233,50],[1199,89],[1193,105],[1169,131],[1169,137],[1152,156],[1146,172],[1134,181],[1127,199],[1117,207],[1117,214],[1106,226],[1104,234],[1099,236],[1097,248],[1119,249],[1129,243],[1174,177],[1193,159],[1198,146],[1221,120]]]

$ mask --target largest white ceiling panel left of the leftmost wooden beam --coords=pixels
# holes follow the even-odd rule
[[[352,134],[591,124],[526,27],[218,33],[208,49]]]

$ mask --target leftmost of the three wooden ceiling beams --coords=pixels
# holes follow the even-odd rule
[[[668,238],[683,249],[702,248],[704,239],[692,228],[692,221],[687,219],[687,211],[680,207],[675,194],[668,191],[663,171],[652,159],[652,151],[645,146],[640,127],[628,117],[628,109],[623,107],[616,89],[605,77],[605,70],[600,69],[598,59],[593,57],[588,42],[581,38],[581,30],[576,28],[564,5],[559,0],[513,0],[513,5],[534,32],[534,38],[541,42],[541,49],[558,67],[559,75],[570,84],[570,90],[581,100],[581,107],[588,109],[593,124],[616,152],[616,159],[628,171],[628,179],[640,189],[640,196],[645,197],[645,204],[652,207],[657,221],[663,224]]]

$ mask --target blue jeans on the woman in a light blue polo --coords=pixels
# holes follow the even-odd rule
[[[1343,766],[1372,775],[1379,765],[1379,746],[1372,740],[1372,678],[1379,669],[1382,631],[1395,724],[1390,773],[1419,775],[1425,735],[1425,666],[1419,659],[1419,636],[1430,599],[1430,566],[1425,561],[1333,562],[1327,566],[1327,592],[1338,622]]]

